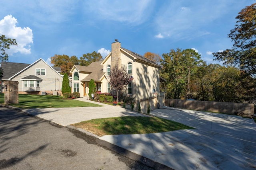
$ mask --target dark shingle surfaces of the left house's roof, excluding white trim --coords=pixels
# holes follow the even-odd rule
[[[8,80],[8,78],[14,76],[27,66],[30,66],[30,64],[25,63],[12,63],[12,62],[4,62],[1,63],[1,68],[3,69],[3,76],[2,80]],[[52,67],[57,72],[61,72],[60,67]]]

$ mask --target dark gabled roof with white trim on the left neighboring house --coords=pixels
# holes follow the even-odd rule
[[[3,69],[2,80],[11,80],[11,78],[20,74],[21,72],[28,69],[29,67],[31,67],[32,65],[34,65],[35,63],[37,63],[40,60],[42,60],[45,64],[47,64],[43,59],[38,59],[37,61],[35,61],[32,64],[2,62],[1,63],[1,68]],[[47,65],[49,67],[51,67],[57,74],[59,74],[58,71],[56,71],[52,66],[50,66],[49,64],[47,64]],[[60,70],[59,67],[55,67],[55,68]],[[60,76],[62,76],[62,75],[60,75]]]

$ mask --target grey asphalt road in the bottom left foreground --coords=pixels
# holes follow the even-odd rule
[[[81,132],[0,107],[0,169],[150,170]]]

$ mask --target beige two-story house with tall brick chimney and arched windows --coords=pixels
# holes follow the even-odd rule
[[[128,73],[134,78],[126,87],[127,96],[135,100],[135,108],[140,104],[142,112],[150,105],[156,109],[164,105],[164,93],[160,94],[160,66],[144,56],[121,47],[115,40],[112,50],[103,61],[93,62],[89,66],[74,65],[72,70],[72,92],[80,92],[80,97],[88,97],[89,82],[93,79],[97,92],[111,92],[111,86],[106,76],[111,72],[111,66],[125,64]],[[111,74],[114,74],[111,72]]]

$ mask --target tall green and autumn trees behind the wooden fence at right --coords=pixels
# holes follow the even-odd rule
[[[236,17],[228,37],[231,49],[213,53],[220,64],[206,64],[192,49],[171,49],[162,55],[160,76],[167,80],[166,96],[218,102],[249,102],[256,99],[256,3]]]

